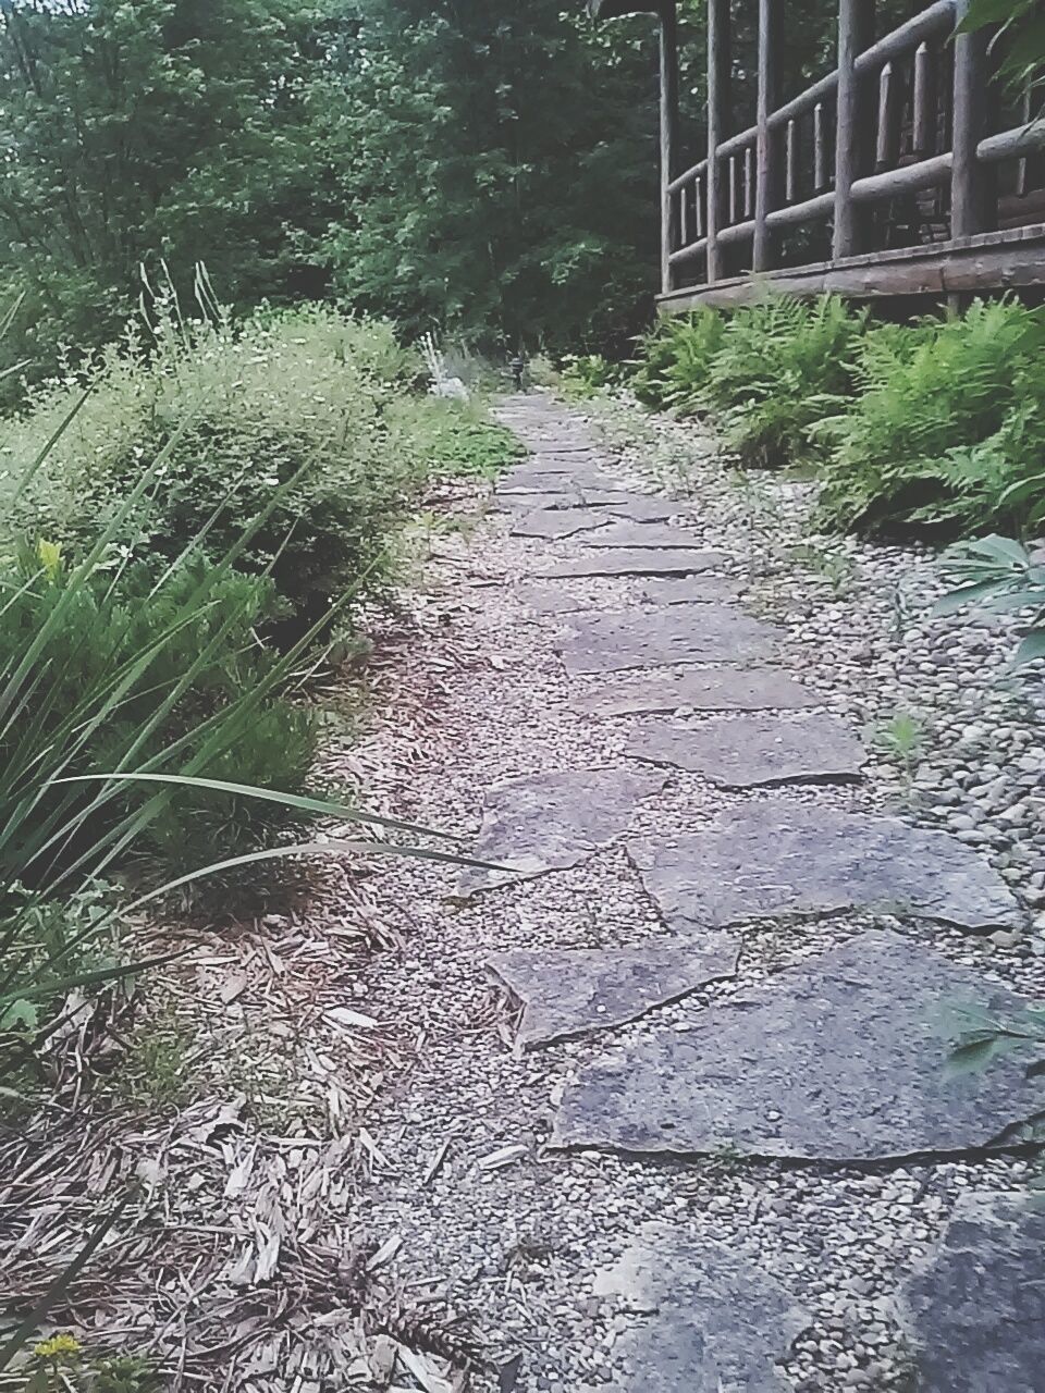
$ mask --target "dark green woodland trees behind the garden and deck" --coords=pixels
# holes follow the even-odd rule
[[[835,11],[789,7],[789,84],[829,61]],[[4,352],[32,373],[111,340],[160,260],[185,288],[205,262],[237,311],[332,299],[495,352],[617,354],[648,319],[648,17],[596,26],[580,0],[3,0],[0,15],[0,277],[28,291]],[[688,0],[694,152],[702,25]]]

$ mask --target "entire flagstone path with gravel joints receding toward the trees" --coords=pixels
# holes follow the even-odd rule
[[[496,495],[521,550],[475,584],[514,646],[439,747],[488,866],[411,882],[400,988],[439,1004],[368,1223],[408,1290],[470,1308],[490,1393],[1045,1387],[1009,1155],[1045,1084],[1019,1049],[946,1068],[956,1013],[1021,1000],[964,943],[1024,911],[975,848],[876,805],[741,557],[568,408],[502,415],[532,451]],[[472,1007],[471,1048],[483,968],[511,1014]]]

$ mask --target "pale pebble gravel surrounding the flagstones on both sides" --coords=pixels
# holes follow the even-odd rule
[[[692,830],[752,798],[890,809],[946,827],[995,865],[1030,911],[1028,932],[986,937],[867,915],[758,925],[744,935],[734,981],[706,988],[613,1032],[642,1039],[686,1029],[723,1002],[871,925],[940,953],[1024,995],[1045,995],[1045,681],[1007,673],[1019,623],[934,620],[939,582],[917,547],[875,547],[808,535],[812,488],[741,483],[699,428],[651,419],[620,404],[573,408],[617,458],[621,478],[679,495],[680,525],[745,581],[743,603],[786,625],[783,666],[847,716],[869,742],[858,786],[800,786],[733,794],[695,775],[641,807],[641,834]],[[440,536],[412,623],[386,662],[411,688],[436,694],[424,724],[378,722],[354,747],[353,773],[382,805],[426,825],[472,834],[489,784],[535,770],[623,765],[637,717],[595,720],[570,695],[614,678],[567,681],[552,644],[562,617],[534,617],[514,585],[538,560],[575,556],[562,542],[510,538],[490,511],[467,539]],[[808,554],[796,547],[808,547]],[[641,579],[557,581],[595,607],[638,603]],[[627,676],[627,674],[623,674]],[[897,763],[882,731],[899,715],[918,738]],[[694,716],[694,720],[704,719]],[[797,719],[787,717],[783,719]],[[814,1323],[786,1380],[801,1393],[901,1390],[908,1358],[892,1297],[911,1262],[940,1233],[966,1188],[1025,1184],[1025,1156],[915,1158],[893,1166],[635,1160],[545,1149],[567,1080],[606,1039],[511,1048],[511,1003],[485,967],[507,947],[635,944],[663,933],[620,846],[584,865],[461,903],[450,869],[425,862],[380,868],[369,893],[400,936],[354,986],[359,1009],[412,1038],[412,1067],[392,1080],[366,1126],[380,1160],[353,1222],[375,1243],[401,1238],[392,1270],[407,1305],[440,1298],[474,1328],[486,1368],[478,1393],[504,1387],[581,1393],[620,1386],[614,1353],[635,1319],[592,1295],[596,1269],[648,1220],[727,1244],[776,1273]],[[504,1163],[483,1159],[502,1148]],[[521,1354],[517,1383],[497,1369]]]

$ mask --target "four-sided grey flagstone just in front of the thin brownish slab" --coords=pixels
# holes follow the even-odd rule
[[[858,736],[837,716],[733,716],[680,726],[648,720],[627,752],[653,765],[704,775],[726,788],[811,779],[858,779],[865,759]]]

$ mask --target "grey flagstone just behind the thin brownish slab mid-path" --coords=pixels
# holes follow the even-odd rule
[[[567,673],[769,657],[780,630],[726,605],[666,605],[567,617],[556,642]]]

